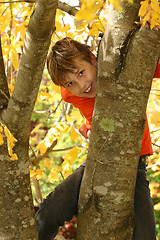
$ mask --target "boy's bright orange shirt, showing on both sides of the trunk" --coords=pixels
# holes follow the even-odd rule
[[[160,64],[157,65],[155,77],[156,78],[160,77]],[[64,87],[61,87],[61,95],[62,95],[62,99],[65,102],[71,103],[74,107],[79,108],[82,115],[86,118],[87,128],[91,129],[95,98],[77,97]],[[140,155],[145,155],[145,154],[147,155],[153,154],[147,117],[146,117],[142,145],[141,145],[141,152],[140,152]]]

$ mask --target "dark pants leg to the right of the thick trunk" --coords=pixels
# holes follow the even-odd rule
[[[135,228],[133,240],[155,240],[155,218],[152,199],[150,197],[149,182],[146,178],[146,163],[140,158],[135,196]]]

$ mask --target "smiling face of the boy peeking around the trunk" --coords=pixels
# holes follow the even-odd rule
[[[64,87],[78,97],[94,98],[96,96],[96,58],[92,56],[92,64],[77,57],[74,60],[74,72],[69,72]]]

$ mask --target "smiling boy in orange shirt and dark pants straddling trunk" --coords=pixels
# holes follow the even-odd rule
[[[47,58],[53,82],[61,86],[62,98],[80,109],[86,118],[80,131],[87,137],[91,129],[96,95],[96,58],[88,46],[64,38],[58,41]],[[148,122],[144,129],[135,188],[135,228],[133,239],[155,240],[155,220],[146,180],[146,156],[153,154]],[[36,215],[39,240],[51,240],[64,221],[77,214],[78,196],[85,163],[59,184],[42,202]]]

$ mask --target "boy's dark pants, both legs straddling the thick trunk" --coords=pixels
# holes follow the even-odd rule
[[[85,165],[59,184],[41,203],[36,214],[39,240],[52,240],[59,226],[77,214],[79,189]],[[146,164],[140,158],[135,188],[135,228],[133,240],[155,240],[155,220],[146,179]]]

